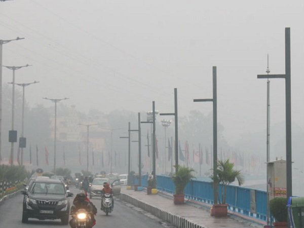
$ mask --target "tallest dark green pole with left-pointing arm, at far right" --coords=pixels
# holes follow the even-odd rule
[[[286,99],[286,197],[292,196],[292,161],[291,161],[291,60],[290,60],[290,28],[285,28],[285,74],[258,74],[258,79],[285,79]],[[288,225],[289,221],[288,221]]]

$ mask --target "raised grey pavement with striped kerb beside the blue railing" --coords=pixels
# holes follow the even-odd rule
[[[147,195],[146,191],[135,192],[123,186],[120,198],[178,228],[262,228],[264,225],[263,221],[248,218],[236,212],[229,212],[226,217],[211,216],[211,205],[205,203],[185,200],[185,204],[175,205],[173,196],[165,192]]]

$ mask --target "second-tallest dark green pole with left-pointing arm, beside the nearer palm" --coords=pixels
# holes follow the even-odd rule
[[[194,102],[211,101],[213,103],[213,175],[216,175],[217,169],[217,97],[216,97],[216,66],[212,67],[213,79],[213,98],[212,99],[194,99]],[[217,204],[218,184],[213,181],[213,203]]]

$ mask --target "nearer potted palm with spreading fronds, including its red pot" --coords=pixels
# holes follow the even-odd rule
[[[228,213],[227,204],[226,204],[226,196],[227,196],[227,186],[234,182],[236,179],[238,180],[239,185],[244,183],[243,175],[241,171],[234,169],[234,164],[227,160],[219,160],[217,162],[216,169],[213,170],[213,174],[211,175],[211,179],[213,183],[217,183],[221,185],[222,191],[221,196],[217,192],[217,200],[218,202],[214,202],[211,208],[211,215],[216,217],[226,216]]]

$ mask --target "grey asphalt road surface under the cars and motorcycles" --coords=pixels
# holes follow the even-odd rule
[[[78,189],[71,189],[71,192],[76,194]],[[69,199],[72,201],[72,198]],[[21,223],[22,201],[23,195],[20,194],[6,200],[0,205],[0,227],[70,227],[69,225],[62,225],[60,220],[38,220],[29,218],[28,223]],[[135,208],[124,201],[120,201],[119,199],[115,199],[115,208],[108,216],[106,216],[103,211],[100,211],[100,199],[92,199],[92,202],[97,207],[97,215],[95,216],[96,225],[94,226],[96,228],[168,227],[166,223],[163,223],[153,215],[150,215],[139,208]]]

